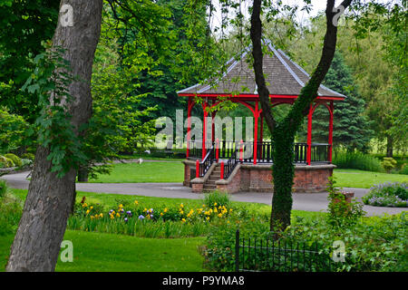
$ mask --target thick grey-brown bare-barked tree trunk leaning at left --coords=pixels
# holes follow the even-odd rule
[[[73,25],[58,21],[53,46],[65,49],[63,57],[71,63],[79,81],[72,82],[68,105],[76,130],[92,115],[92,63],[101,33],[102,0],[63,0],[73,7]],[[73,207],[76,170],[63,178],[51,173],[48,148],[39,146],[35,155],[32,181],[24,205],[23,217],[15,235],[7,271],[53,271],[65,233],[67,218]]]

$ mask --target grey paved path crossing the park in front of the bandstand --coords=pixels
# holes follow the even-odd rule
[[[29,180],[26,179],[29,172],[15,173],[2,176],[9,186],[13,189],[28,189]],[[192,193],[191,189],[183,187],[181,183],[77,183],[76,189],[85,192],[113,193],[125,195],[137,195],[159,198],[203,198],[202,194]],[[368,189],[351,189],[354,191],[355,198],[361,201],[361,198],[367,193]],[[235,201],[257,202],[271,205],[272,193],[270,192],[238,192],[231,195]],[[308,211],[325,211],[327,208],[327,193],[294,193],[293,209]],[[382,208],[364,206],[368,216],[378,216],[387,214],[396,214],[406,211],[407,208]]]

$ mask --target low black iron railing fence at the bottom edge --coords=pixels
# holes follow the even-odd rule
[[[332,259],[306,243],[271,238],[243,238],[236,233],[236,272],[331,272]]]

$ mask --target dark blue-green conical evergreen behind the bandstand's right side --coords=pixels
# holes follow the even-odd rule
[[[335,148],[367,151],[374,131],[370,129],[370,121],[364,115],[365,102],[357,92],[350,68],[345,65],[341,53],[335,53],[333,63],[325,76],[324,85],[346,96],[345,101],[335,102],[333,122]],[[328,121],[328,110],[325,106],[318,106],[313,114],[312,140],[314,142],[327,142]],[[306,126],[307,122],[305,122],[305,128]],[[301,140],[306,140],[306,136],[306,129],[299,133]]]

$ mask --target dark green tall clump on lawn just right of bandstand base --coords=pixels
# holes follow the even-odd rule
[[[335,151],[332,163],[339,169],[360,169],[375,172],[384,171],[379,159],[360,152]]]

